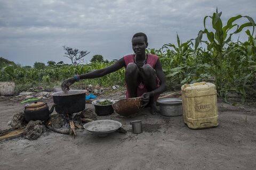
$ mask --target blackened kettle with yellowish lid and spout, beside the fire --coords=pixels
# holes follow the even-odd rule
[[[29,121],[46,121],[49,119],[49,115],[53,112],[55,104],[49,111],[49,107],[46,103],[35,101],[32,104],[25,106],[25,120]]]

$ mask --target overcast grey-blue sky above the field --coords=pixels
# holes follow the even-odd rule
[[[223,24],[238,14],[256,21],[255,0],[0,0],[0,57],[22,66],[63,61],[62,46],[87,50],[105,60],[132,54],[136,32],[148,36],[148,48],[185,42],[204,29],[204,16],[222,11]],[[240,22],[247,22],[240,19]],[[210,20],[208,20],[210,27]],[[245,38],[245,33],[240,36]]]

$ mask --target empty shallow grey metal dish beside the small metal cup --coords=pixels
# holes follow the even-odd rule
[[[121,128],[122,123],[114,120],[97,120],[84,124],[84,129],[99,137],[106,137],[108,133],[115,132]]]

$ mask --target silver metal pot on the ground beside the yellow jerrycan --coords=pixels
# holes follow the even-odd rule
[[[161,115],[180,116],[183,114],[181,98],[158,99],[157,104],[159,104],[159,109],[160,109]]]

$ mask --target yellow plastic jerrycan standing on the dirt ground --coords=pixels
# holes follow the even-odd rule
[[[218,126],[217,91],[213,83],[198,82],[181,86],[184,123],[190,129]]]

